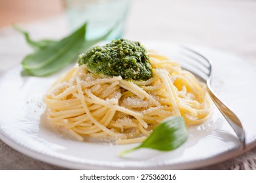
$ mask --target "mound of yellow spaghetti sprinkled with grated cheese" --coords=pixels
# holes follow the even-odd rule
[[[143,141],[168,116],[183,116],[187,124],[205,122],[211,113],[205,84],[178,63],[148,54],[149,80],[101,77],[85,65],[73,67],[43,97],[48,121],[79,141],[97,137],[117,144]]]

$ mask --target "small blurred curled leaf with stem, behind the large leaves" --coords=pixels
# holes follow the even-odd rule
[[[56,41],[49,40],[49,39],[43,39],[41,41],[33,41],[31,39],[31,37],[29,36],[29,33],[27,33],[26,31],[22,30],[20,27],[18,27],[18,25],[12,25],[12,27],[16,31],[22,33],[25,36],[27,44],[29,44],[29,46],[31,46],[34,50],[40,50],[40,49],[46,48],[47,46],[49,46],[53,42],[56,42]]]

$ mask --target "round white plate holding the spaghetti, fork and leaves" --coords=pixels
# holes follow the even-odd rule
[[[175,44],[148,42],[175,58]],[[193,47],[213,62],[213,88],[242,120],[247,150],[256,146],[256,68],[234,56]],[[178,61],[178,60],[177,60]],[[0,138],[12,148],[41,161],[70,169],[193,169],[242,153],[231,127],[216,110],[211,122],[189,128],[189,139],[172,152],[143,149],[126,158],[117,154],[136,144],[77,142],[40,123],[45,110],[42,96],[57,75],[37,78],[20,75],[20,66],[0,76]]]

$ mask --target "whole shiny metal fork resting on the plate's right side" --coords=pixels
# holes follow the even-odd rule
[[[194,75],[198,76],[203,82],[207,85],[208,93],[215,103],[216,107],[219,109],[221,114],[225,117],[227,122],[230,124],[234,132],[238,136],[239,141],[241,142],[242,148],[246,148],[246,135],[242,123],[240,122],[238,116],[232,112],[232,110],[219,99],[211,88],[211,62],[208,58],[199,54],[195,50],[188,48],[187,46],[181,45],[181,52],[183,61],[186,64],[183,66],[184,69],[191,71]]]

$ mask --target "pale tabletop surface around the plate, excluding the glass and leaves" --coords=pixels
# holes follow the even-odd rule
[[[67,32],[64,16],[22,27],[29,29],[34,38],[56,39]],[[200,44],[229,52],[256,65],[256,1],[134,0],[124,37]],[[0,73],[20,63],[28,52],[30,49],[20,34],[10,27],[0,29]],[[0,141],[0,169],[62,168],[29,158]],[[256,169],[256,148],[202,169]]]

